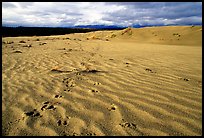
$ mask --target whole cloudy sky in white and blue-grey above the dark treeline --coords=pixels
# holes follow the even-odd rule
[[[2,24],[201,25],[202,2],[2,2]]]

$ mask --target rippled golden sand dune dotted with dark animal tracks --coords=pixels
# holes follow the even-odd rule
[[[177,26],[2,38],[2,135],[202,135],[201,36]]]

